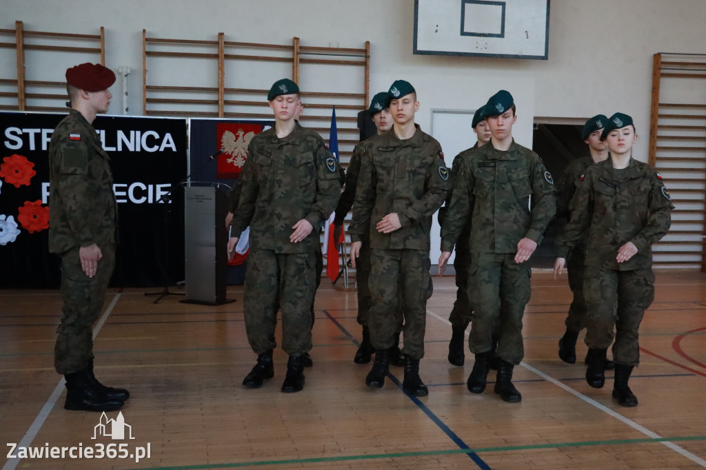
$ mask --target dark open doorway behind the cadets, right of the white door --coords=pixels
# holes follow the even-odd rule
[[[581,127],[573,124],[535,124],[532,150],[542,157],[554,183],[561,179],[566,165],[573,159],[588,155],[588,147],[581,140]],[[549,224],[544,240],[532,255],[532,267],[553,268],[556,252],[554,241],[558,231],[556,219]]]

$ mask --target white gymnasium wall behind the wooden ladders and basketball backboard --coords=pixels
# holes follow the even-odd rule
[[[95,33],[104,26],[107,65],[133,70],[131,114],[142,109],[143,28],[150,37],[215,40],[225,32],[226,40],[274,44],[291,44],[294,36],[302,44],[340,47],[369,40],[371,93],[396,78],[412,82],[421,102],[417,121],[425,130],[432,108],[474,109],[504,87],[517,96],[517,131],[530,135],[523,144],[531,145],[527,126],[534,116],[585,118],[620,110],[633,116],[642,134],[639,159],[647,159],[652,54],[706,52],[703,0],[555,0],[547,61],[415,56],[412,0],[0,0],[0,28],[14,28],[15,20],[25,30],[53,32]],[[54,66],[49,59],[42,64]],[[14,67],[11,56],[0,56],[3,75]],[[188,83],[215,71],[189,62],[166,73]],[[257,71],[249,78],[256,80]],[[327,74],[313,78],[330,88]],[[110,112],[120,113],[117,97]]]

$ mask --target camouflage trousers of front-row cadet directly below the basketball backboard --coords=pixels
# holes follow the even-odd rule
[[[473,296],[473,319],[468,337],[473,354],[493,347],[493,330],[499,328],[497,354],[519,364],[525,356],[522,316],[530,301],[530,264],[515,263],[515,254],[472,253],[469,296]]]

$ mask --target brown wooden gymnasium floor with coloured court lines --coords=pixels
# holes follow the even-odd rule
[[[229,288],[235,303],[217,307],[177,296],[155,305],[143,289],[112,289],[96,325],[96,371],[102,382],[131,391],[121,411],[133,440],[94,440],[100,414],[64,410],[52,356],[58,292],[0,290],[0,442],[115,444],[125,454],[150,448],[140,462],[4,453],[3,469],[706,467],[706,275],[657,271],[656,299],[641,327],[642,363],[630,380],[635,408],[611,398],[611,372],[594,390],[582,363],[559,360],[566,277],[555,282],[550,272],[535,272],[532,284],[525,361],[515,368],[520,404],[493,394],[492,371],[486,392],[470,394],[468,353],[464,367],[446,360],[453,277],[434,278],[420,368],[429,396],[419,399],[402,392],[402,368],[391,368],[382,390],[364,385],[370,365],[352,360],[360,338],[355,293],[336,291],[327,279],[316,298],[314,365],[295,394],[280,392],[287,361],[280,349],[275,378],[258,390],[241,387],[256,358],[244,332],[242,287]],[[580,360],[585,351],[580,341]]]

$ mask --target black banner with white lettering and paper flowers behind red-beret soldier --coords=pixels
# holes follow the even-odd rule
[[[59,287],[49,253],[49,141],[65,114],[0,112],[0,287]],[[98,116],[118,202],[111,285],[162,287],[184,279],[186,119]]]

